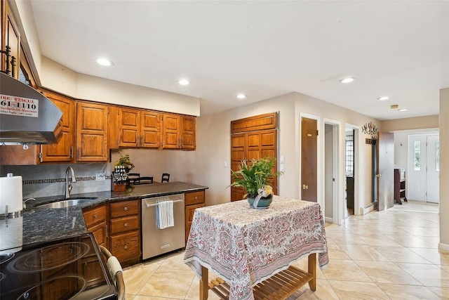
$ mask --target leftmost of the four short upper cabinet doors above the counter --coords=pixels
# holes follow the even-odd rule
[[[120,147],[138,147],[140,131],[140,111],[121,108],[119,111]]]

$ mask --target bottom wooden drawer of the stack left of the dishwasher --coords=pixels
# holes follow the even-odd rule
[[[111,253],[120,262],[140,256],[139,231],[111,235]]]

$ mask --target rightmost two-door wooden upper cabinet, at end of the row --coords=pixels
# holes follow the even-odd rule
[[[196,118],[163,114],[162,148],[195,150]]]

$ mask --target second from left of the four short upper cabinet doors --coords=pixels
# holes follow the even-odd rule
[[[161,114],[158,112],[141,112],[140,147],[159,148],[161,145]]]

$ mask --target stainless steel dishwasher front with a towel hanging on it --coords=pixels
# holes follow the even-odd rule
[[[175,226],[156,226],[156,207],[160,201],[173,201]],[[142,259],[149,259],[185,247],[184,194],[142,198]]]

